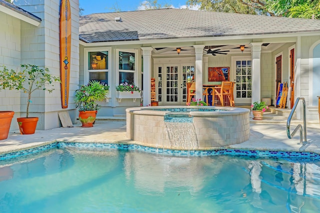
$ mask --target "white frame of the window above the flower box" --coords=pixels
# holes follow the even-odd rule
[[[119,52],[131,52],[134,53],[134,70],[123,70],[123,69],[119,69]],[[138,62],[140,60],[139,55],[138,55],[138,50],[137,49],[116,49],[116,56],[115,56],[115,66],[116,66],[116,85],[118,85],[119,83],[119,72],[132,72],[133,73],[133,83],[136,86],[140,86],[139,85],[139,77],[137,75],[137,70],[138,70]]]

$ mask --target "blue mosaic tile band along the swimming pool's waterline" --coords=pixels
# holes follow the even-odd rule
[[[152,148],[135,144],[104,144],[104,143],[76,143],[76,142],[54,142],[51,144],[20,150],[12,153],[0,154],[0,161],[12,159],[29,154],[35,154],[51,148],[98,148],[115,150],[137,150],[147,153],[168,155],[168,156],[216,156],[233,155],[251,158],[272,158],[272,159],[296,159],[302,161],[320,161],[320,155],[312,152],[296,151],[272,151],[272,150],[239,150],[239,149],[216,149],[216,150],[170,150]]]

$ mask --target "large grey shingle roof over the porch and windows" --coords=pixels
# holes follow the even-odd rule
[[[81,16],[79,36],[102,42],[314,31],[320,34],[320,20],[167,8]]]

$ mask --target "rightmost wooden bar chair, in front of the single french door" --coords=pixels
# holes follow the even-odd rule
[[[214,97],[220,106],[234,106],[233,99],[234,82],[222,81],[221,86],[214,87]]]

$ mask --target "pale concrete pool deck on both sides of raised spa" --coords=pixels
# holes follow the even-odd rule
[[[12,121],[14,122],[14,121]],[[291,121],[291,132],[300,121]],[[20,135],[9,132],[6,140],[0,141],[0,154],[24,150],[40,145],[59,142],[95,142],[95,143],[135,143],[126,138],[125,120],[96,120],[91,128],[80,127],[77,121],[71,128],[36,130],[32,135]],[[292,139],[286,136],[286,118],[264,115],[264,120],[254,121],[250,118],[249,140],[236,145],[226,146],[232,149],[306,151],[320,154],[320,125],[307,122],[306,145],[299,144],[299,133]],[[139,144],[139,143],[137,143]]]

